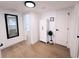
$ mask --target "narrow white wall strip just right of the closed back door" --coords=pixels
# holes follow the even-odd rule
[[[70,31],[71,31],[71,20],[72,20],[72,12],[73,12],[73,8],[68,8],[67,9],[67,47],[70,48]],[[70,13],[70,15],[68,15],[68,13]]]

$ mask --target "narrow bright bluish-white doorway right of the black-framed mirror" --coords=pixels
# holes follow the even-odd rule
[[[30,43],[30,15],[26,14],[24,15],[24,35],[25,40],[27,40],[27,43]]]

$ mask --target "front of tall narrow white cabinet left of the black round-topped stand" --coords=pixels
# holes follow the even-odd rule
[[[47,20],[40,20],[40,41],[47,42]]]

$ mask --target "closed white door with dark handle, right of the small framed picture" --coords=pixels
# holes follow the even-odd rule
[[[67,46],[67,13],[59,11],[56,15],[56,43]]]

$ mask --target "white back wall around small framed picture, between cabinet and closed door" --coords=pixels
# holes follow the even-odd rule
[[[40,20],[50,20],[50,17],[54,17],[54,22],[49,22],[49,30],[51,30],[54,33],[53,41],[55,43],[55,18],[56,18],[56,12],[55,11],[48,11],[41,13],[39,16],[39,22]],[[48,27],[48,26],[47,26]],[[40,31],[39,31],[40,32]]]

